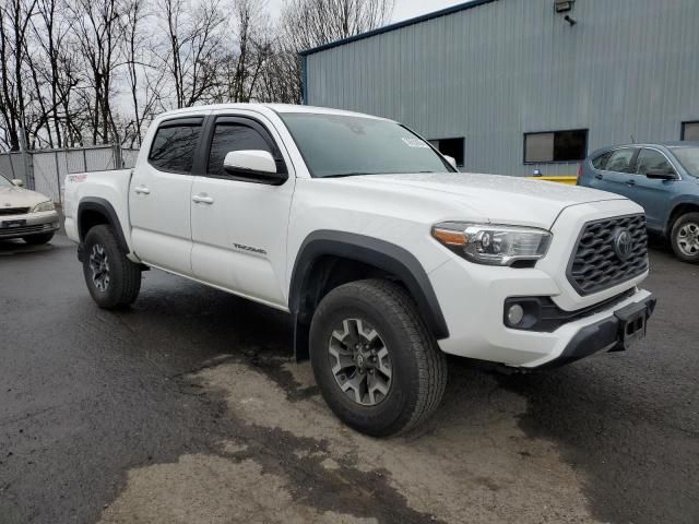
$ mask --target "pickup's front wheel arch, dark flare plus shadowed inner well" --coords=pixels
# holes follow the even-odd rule
[[[340,267],[336,264],[341,264]],[[339,269],[339,276],[332,274],[334,269]],[[288,303],[294,318],[294,349],[298,360],[308,357],[308,326],[320,299],[337,285],[368,276],[398,281],[415,301],[433,335],[437,340],[449,336],[437,295],[413,253],[364,235],[318,230],[304,240],[289,285]]]

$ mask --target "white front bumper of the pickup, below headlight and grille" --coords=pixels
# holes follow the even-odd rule
[[[529,369],[618,350],[624,347],[625,312],[633,310],[638,317],[644,310],[648,320],[655,307],[651,293],[636,287],[644,276],[629,281],[616,299],[601,296],[599,308],[573,314],[553,331],[532,331],[508,327],[505,303],[511,297],[556,301],[561,290],[549,275],[536,269],[478,266],[452,259],[429,274],[449,329],[449,337],[438,343],[445,353]]]

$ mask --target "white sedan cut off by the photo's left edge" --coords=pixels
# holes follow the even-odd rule
[[[22,188],[22,180],[0,175],[0,240],[22,238],[26,243],[46,243],[59,228],[54,202]]]

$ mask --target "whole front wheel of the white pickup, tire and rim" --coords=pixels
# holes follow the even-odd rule
[[[320,302],[310,327],[316,382],[332,412],[374,437],[403,433],[441,402],[447,359],[398,284],[342,285]]]

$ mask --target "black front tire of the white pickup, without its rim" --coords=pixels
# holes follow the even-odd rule
[[[363,319],[389,350],[392,377],[377,405],[350,398],[333,373],[329,345],[344,319]],[[310,326],[310,360],[316,382],[332,412],[347,426],[372,437],[405,433],[439,406],[447,385],[447,359],[407,291],[386,279],[344,284],[319,303]]]

